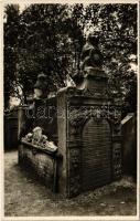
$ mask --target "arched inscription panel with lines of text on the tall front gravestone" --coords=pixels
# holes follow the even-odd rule
[[[111,135],[109,124],[89,119],[83,130],[83,190],[111,181]]]

